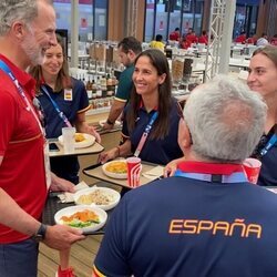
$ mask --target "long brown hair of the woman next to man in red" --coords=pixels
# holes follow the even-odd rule
[[[55,34],[55,35],[57,35],[58,44],[60,44],[61,48],[62,48],[62,54],[63,54],[62,68],[58,73],[55,88],[54,88],[54,92],[60,92],[63,89],[72,89],[72,82],[71,82],[71,78],[69,75],[68,58],[65,55],[65,48],[64,48],[62,37],[59,35],[59,34]],[[37,81],[35,93],[39,94],[40,93],[41,81],[42,81],[42,68],[41,68],[41,65],[35,65],[35,66],[31,68],[29,73]]]

